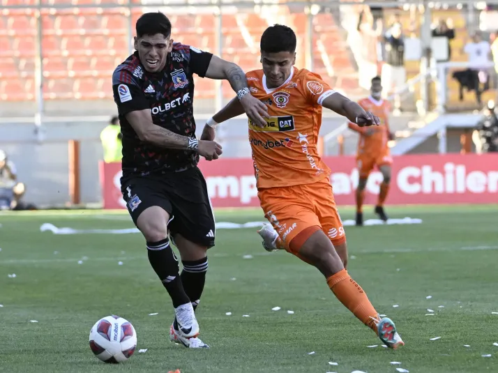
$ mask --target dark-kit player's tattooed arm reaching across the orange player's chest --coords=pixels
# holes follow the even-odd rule
[[[246,74],[236,63],[213,56],[209,62],[206,77],[227,79],[232,89],[237,93],[237,98],[249,119],[259,125],[266,123],[264,117],[269,118],[268,108],[250,94]]]

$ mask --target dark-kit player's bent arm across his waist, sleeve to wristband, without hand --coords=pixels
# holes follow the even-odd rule
[[[151,110],[136,110],[126,114],[126,119],[142,142],[167,149],[197,149],[197,140],[178,135],[152,123]],[[195,144],[193,144],[195,142]],[[191,144],[192,143],[192,144]]]

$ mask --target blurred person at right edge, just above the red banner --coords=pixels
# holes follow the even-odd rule
[[[488,102],[484,115],[472,133],[476,153],[498,152],[498,117],[494,101]]]

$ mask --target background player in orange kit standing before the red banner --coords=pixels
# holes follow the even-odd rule
[[[389,132],[389,111],[391,105],[382,100],[382,82],[380,77],[372,79],[370,96],[359,101],[363,109],[372,112],[380,119],[380,125],[375,127],[360,127],[356,123],[349,122],[349,128],[359,132],[358,153],[356,162],[359,169],[358,188],[356,189],[356,225],[363,225],[363,199],[365,198],[365,186],[368,175],[377,166],[384,177],[380,184],[379,199],[375,206],[375,213],[379,218],[387,221],[388,217],[384,212],[384,201],[386,201],[391,182],[391,164],[393,158],[387,146],[388,140],[392,139]]]

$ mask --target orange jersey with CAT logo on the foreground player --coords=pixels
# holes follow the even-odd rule
[[[318,155],[322,102],[335,91],[322,78],[293,68],[282,86],[269,89],[263,70],[246,74],[252,96],[268,107],[271,119],[259,128],[250,120],[249,140],[257,188],[315,183],[331,174]]]

